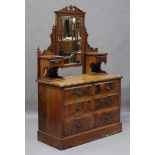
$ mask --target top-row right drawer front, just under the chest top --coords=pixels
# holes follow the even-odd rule
[[[119,91],[119,81],[109,81],[95,84],[95,94],[110,94]]]

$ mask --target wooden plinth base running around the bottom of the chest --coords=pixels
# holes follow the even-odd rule
[[[90,129],[88,131],[80,132],[62,139],[49,135],[48,133],[38,131],[38,140],[60,150],[64,150],[80,144],[91,142],[96,139],[107,137],[121,131],[121,123],[113,123],[107,126]]]

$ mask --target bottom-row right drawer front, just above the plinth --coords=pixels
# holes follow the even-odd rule
[[[95,114],[95,127],[108,125],[120,120],[119,110]]]

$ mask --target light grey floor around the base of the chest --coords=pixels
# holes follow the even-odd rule
[[[129,118],[129,112],[122,112],[123,131],[119,134],[61,151],[37,141],[37,114],[27,113],[25,120],[25,155],[129,155]]]

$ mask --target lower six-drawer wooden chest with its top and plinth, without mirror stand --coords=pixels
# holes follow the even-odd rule
[[[121,76],[38,80],[38,139],[66,149],[121,131]]]

